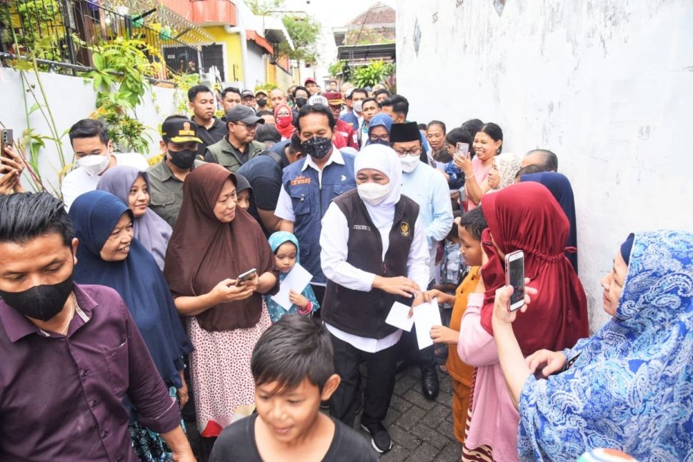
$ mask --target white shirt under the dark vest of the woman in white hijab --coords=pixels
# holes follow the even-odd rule
[[[390,229],[392,229],[392,221],[378,228],[383,248],[382,258],[385,258],[389,247]],[[346,256],[349,253],[348,242],[349,224],[346,221],[346,216],[336,204],[330,204],[322,219],[322,231],[320,233],[322,271],[326,278],[340,286],[355,291],[369,292],[373,288],[373,280],[376,275],[346,262]],[[428,261],[429,250],[425,229],[421,220],[417,218],[417,222],[414,224],[414,240],[407,256],[407,277],[419,284],[422,291],[426,290],[429,281]],[[377,353],[389,348],[395,345],[402,336],[402,331],[399,329],[384,338],[368,338],[341,331],[328,323],[325,323],[325,327],[336,338],[367,353]]]

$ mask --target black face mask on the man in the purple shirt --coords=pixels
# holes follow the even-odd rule
[[[21,292],[0,291],[0,297],[24,316],[45,322],[62,311],[72,293],[72,286],[70,273],[64,281],[52,286],[34,286]]]

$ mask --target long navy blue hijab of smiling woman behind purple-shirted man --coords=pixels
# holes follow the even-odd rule
[[[171,291],[151,253],[133,238],[124,261],[104,261],[101,248],[123,214],[132,212],[113,194],[90,191],[70,208],[79,239],[74,281],[114,288],[124,299],[139,328],[156,369],[167,386],[182,386],[181,356],[192,351]]]

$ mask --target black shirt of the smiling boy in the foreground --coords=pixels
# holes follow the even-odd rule
[[[214,443],[209,462],[261,461],[255,441],[257,414],[242,418],[224,428]],[[324,462],[377,462],[378,458],[369,442],[352,428],[334,422],[334,436]]]

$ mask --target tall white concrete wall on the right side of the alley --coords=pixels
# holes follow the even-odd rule
[[[559,156],[577,202],[592,330],[631,231],[693,229],[693,2],[397,1],[409,119],[497,122],[504,150]],[[459,5],[459,6],[458,6]],[[421,30],[414,51],[414,24]]]

